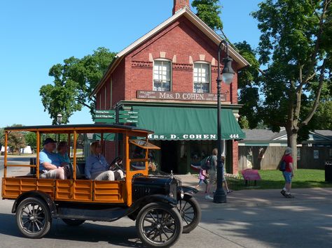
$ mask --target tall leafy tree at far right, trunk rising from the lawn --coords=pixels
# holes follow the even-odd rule
[[[285,126],[293,157],[298,131],[312,119],[322,86],[331,77],[331,5],[331,0],[265,0],[252,13],[262,33],[259,61],[268,66],[262,77],[263,120],[272,131]],[[314,102],[305,113],[314,83]]]

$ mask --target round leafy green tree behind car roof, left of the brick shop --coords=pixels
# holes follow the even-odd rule
[[[68,123],[69,117],[83,106],[88,107],[93,114],[96,100],[91,99],[90,94],[114,56],[115,53],[108,49],[98,48],[82,59],[70,57],[64,59],[63,64],[55,64],[50,68],[53,85],[43,85],[39,92],[52,124],[57,124],[59,113],[62,114],[62,123]]]

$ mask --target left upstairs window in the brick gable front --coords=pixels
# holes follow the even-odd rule
[[[170,92],[171,90],[171,62],[156,60],[153,64],[153,90]]]

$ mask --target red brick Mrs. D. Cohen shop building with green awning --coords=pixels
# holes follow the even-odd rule
[[[218,36],[189,8],[174,0],[173,15],[119,52],[95,88],[97,110],[137,110],[137,126],[155,131],[162,148],[155,154],[161,170],[188,173],[191,163],[216,147],[216,77]],[[237,71],[249,66],[233,48],[235,77],[222,85],[221,129],[226,169],[237,173],[238,147],[244,137],[236,117]],[[224,57],[225,54],[222,54]],[[108,122],[104,119],[104,122]],[[111,121],[110,121],[111,122]],[[106,156],[115,156],[107,143]]]

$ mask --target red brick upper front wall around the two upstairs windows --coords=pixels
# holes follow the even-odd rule
[[[172,61],[174,55],[177,57],[177,62],[172,63],[172,91],[174,92],[193,92],[193,65],[190,64],[190,56],[193,62],[206,61],[212,64],[214,59],[211,89],[212,93],[216,93],[218,46],[202,31],[192,26],[186,17],[181,17],[127,54],[125,57],[125,100],[135,100],[137,89],[153,90],[153,62],[149,60],[149,54],[153,59],[159,59],[160,52],[165,52],[165,58],[162,59]],[[204,54],[205,58],[201,60],[200,54]],[[224,57],[224,54],[222,53],[221,56]],[[236,70],[236,63],[233,63],[233,68]],[[227,101],[237,103],[236,75],[231,87],[223,84],[221,92],[228,92]]]

